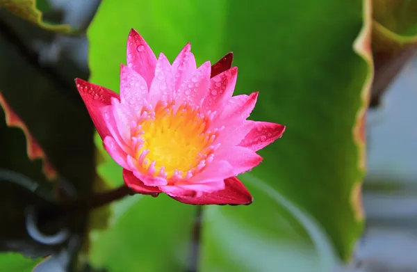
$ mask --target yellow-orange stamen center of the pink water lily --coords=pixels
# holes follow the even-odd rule
[[[169,179],[192,177],[213,159],[212,145],[218,129],[208,131],[210,116],[188,104],[159,103],[152,118],[138,126],[136,148],[142,173]]]

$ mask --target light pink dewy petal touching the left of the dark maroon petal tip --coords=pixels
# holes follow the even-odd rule
[[[176,103],[177,106],[183,102],[189,102],[193,106],[200,106],[202,104],[207,94],[208,83],[210,82],[210,69],[210,62],[206,61],[186,81],[181,83],[175,97],[179,102]]]

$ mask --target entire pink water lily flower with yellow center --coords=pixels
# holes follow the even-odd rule
[[[106,151],[133,191],[193,205],[252,202],[236,175],[261,163],[256,151],[285,127],[246,120],[258,93],[232,97],[238,69],[231,58],[197,68],[187,44],[171,65],[132,29],[120,96],[76,79]]]

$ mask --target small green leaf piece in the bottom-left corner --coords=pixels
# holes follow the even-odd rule
[[[40,262],[40,259],[28,259],[19,253],[0,254],[0,267],[2,271],[31,272]]]

